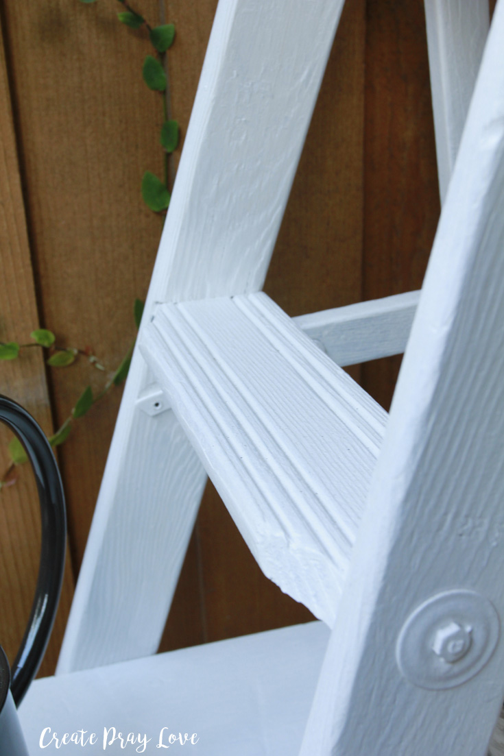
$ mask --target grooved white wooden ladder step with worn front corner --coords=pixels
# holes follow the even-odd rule
[[[333,624],[387,413],[264,293],[158,305],[141,349],[265,575]]]

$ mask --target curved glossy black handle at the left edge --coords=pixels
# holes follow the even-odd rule
[[[61,477],[51,445],[30,414],[0,395],[0,421],[8,425],[25,448],[39,490],[42,547],[39,579],[30,620],[14,660],[11,691],[18,705],[35,677],[51,634],[58,608],[65,561],[67,518]]]

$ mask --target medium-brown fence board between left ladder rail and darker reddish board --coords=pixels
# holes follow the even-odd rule
[[[346,0],[264,285],[291,317],[362,299],[365,52]]]

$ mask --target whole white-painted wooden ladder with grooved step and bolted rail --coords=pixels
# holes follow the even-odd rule
[[[58,671],[156,650],[206,470],[266,575],[332,628],[300,753],[484,754],[504,698],[504,7],[474,88],[487,0],[425,0],[443,211],[421,296],[291,320],[260,290],[343,0],[257,5],[219,3]],[[341,366],[408,336],[387,417]]]

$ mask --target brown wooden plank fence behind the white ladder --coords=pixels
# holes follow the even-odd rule
[[[164,5],[138,0],[153,23],[165,14],[176,24],[170,98],[183,136],[216,0]],[[107,369],[135,336],[133,302],[145,297],[162,227],[140,194],[143,172],[162,172],[160,96],[142,82],[144,31],[118,23],[117,10],[114,0],[0,6],[0,339],[25,341],[47,327],[62,344],[92,346]],[[347,0],[266,292],[296,315],[418,288],[438,215],[422,0]],[[352,370],[387,407],[399,364]],[[106,380],[86,358],[47,368],[36,349],[0,370],[2,392],[47,432],[87,384],[98,392]],[[58,655],[119,401],[114,389],[58,449],[69,559],[43,674]],[[12,661],[38,565],[36,491],[25,469],[0,491],[0,523],[0,640]],[[308,618],[263,577],[209,487],[161,648]]]

